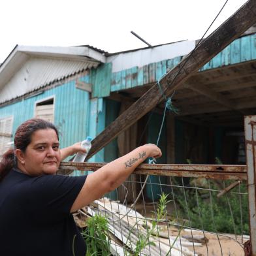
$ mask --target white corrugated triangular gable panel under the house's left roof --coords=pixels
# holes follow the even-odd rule
[[[69,61],[67,59],[30,57],[1,90],[0,103],[15,99],[86,69],[95,68],[98,65],[98,61]]]

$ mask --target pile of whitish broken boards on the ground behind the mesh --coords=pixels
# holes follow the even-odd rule
[[[109,199],[95,200],[74,214],[79,227],[86,218],[101,214],[108,220],[108,241],[112,255],[201,255],[196,248],[208,242],[206,236],[179,230],[170,223],[155,222],[135,210]],[[192,248],[192,251],[191,249]]]

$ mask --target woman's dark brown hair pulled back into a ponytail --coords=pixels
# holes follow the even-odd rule
[[[9,149],[3,154],[3,159],[0,162],[0,182],[5,176],[16,166],[15,150],[19,149],[25,152],[27,146],[31,142],[31,136],[35,131],[41,129],[54,129],[56,131],[57,138],[59,139],[59,133],[54,124],[49,121],[39,118],[33,118],[22,123],[14,136],[14,149]]]

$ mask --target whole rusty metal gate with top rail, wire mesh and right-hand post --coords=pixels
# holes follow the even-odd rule
[[[255,255],[255,124],[256,116],[246,117],[247,165],[142,164],[116,191],[78,211],[88,249],[95,255]],[[104,164],[61,163],[60,170],[84,174]]]

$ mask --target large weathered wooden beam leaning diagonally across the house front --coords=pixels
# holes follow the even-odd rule
[[[255,0],[249,0],[161,79],[160,84],[165,94],[171,95],[189,76],[197,72],[255,22]],[[163,96],[158,84],[155,84],[92,141],[87,159],[152,110],[160,101],[163,101]]]

